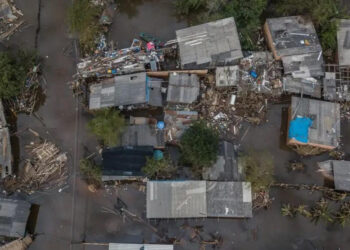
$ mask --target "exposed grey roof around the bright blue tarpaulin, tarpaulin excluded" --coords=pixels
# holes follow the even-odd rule
[[[293,96],[291,114],[313,120],[309,129],[309,143],[328,147],[339,146],[340,106],[338,103]]]

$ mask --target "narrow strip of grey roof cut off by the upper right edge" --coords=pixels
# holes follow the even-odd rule
[[[339,65],[350,67],[350,19],[340,20],[337,39]]]

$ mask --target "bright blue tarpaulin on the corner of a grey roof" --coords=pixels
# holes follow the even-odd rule
[[[288,137],[307,143],[309,140],[309,128],[312,120],[308,117],[297,117],[289,124]]]

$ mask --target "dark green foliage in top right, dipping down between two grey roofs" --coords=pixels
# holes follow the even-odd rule
[[[319,35],[324,52],[337,47],[339,19],[346,17],[339,0],[275,0],[270,6],[277,16],[304,15],[309,17]]]

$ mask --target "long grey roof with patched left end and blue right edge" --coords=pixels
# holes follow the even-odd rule
[[[148,102],[146,73],[121,75],[90,86],[90,109]]]

